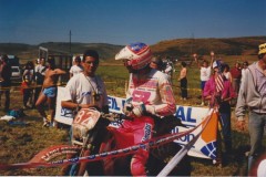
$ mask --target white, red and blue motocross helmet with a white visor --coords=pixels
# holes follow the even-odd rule
[[[115,60],[129,60],[129,65],[134,70],[144,69],[151,63],[152,51],[145,43],[136,42],[123,48]]]

